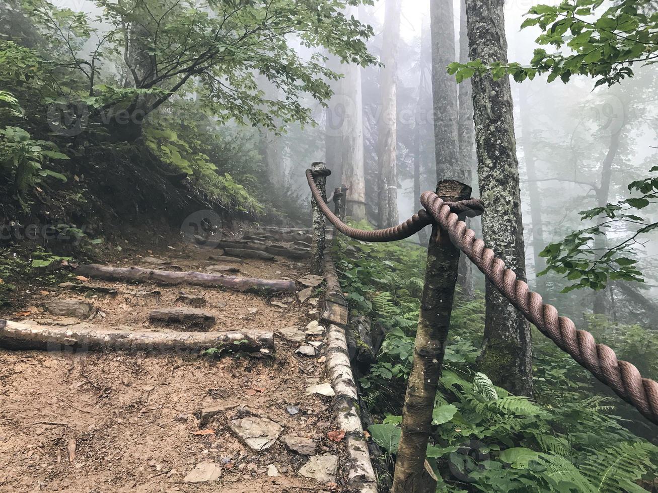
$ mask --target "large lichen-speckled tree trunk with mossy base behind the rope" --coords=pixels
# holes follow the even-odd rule
[[[504,0],[467,0],[470,59],[507,62],[503,9]],[[472,87],[480,196],[486,205],[482,234],[488,247],[523,279],[519,162],[509,78],[494,81],[489,73],[476,73]],[[478,363],[496,385],[517,395],[532,394],[530,325],[490,282]]]

